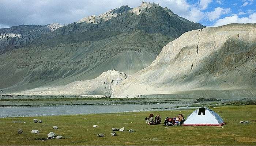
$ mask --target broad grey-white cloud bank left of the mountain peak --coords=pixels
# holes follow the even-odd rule
[[[0,27],[67,24],[122,5],[138,7],[141,3],[141,0],[0,0]]]

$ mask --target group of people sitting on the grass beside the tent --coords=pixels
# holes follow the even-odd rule
[[[150,114],[149,117],[145,118],[146,123],[148,125],[156,125],[156,124],[161,124],[161,117],[160,114],[157,114],[157,116],[155,116],[155,120],[154,120],[154,115]],[[170,118],[170,117],[166,117],[165,119],[165,125],[166,126],[174,126],[174,125],[181,125],[183,124],[185,121],[184,115],[183,114],[178,114],[177,117],[174,118]]]

